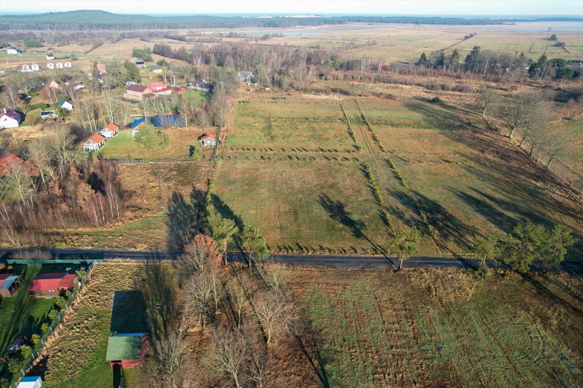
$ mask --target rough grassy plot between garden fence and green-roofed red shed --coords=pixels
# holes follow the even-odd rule
[[[44,372],[44,386],[113,386],[114,373],[106,361],[110,332],[144,330],[146,324],[150,336],[156,335],[161,330],[160,314],[173,314],[167,311],[174,293],[172,276],[170,266],[166,265],[154,268],[97,264],[75,308],[66,316],[61,332],[48,344],[40,357],[41,364],[35,368]],[[154,293],[154,287],[164,292]],[[125,291],[131,297],[121,298],[117,303],[115,291]],[[157,309],[157,303],[165,303],[165,307]],[[124,369],[123,379],[124,387],[137,388],[142,386],[145,376],[142,369]]]

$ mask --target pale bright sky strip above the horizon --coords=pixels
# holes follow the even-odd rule
[[[419,16],[574,16],[583,0],[2,0],[0,15],[100,9],[114,13],[333,13]]]

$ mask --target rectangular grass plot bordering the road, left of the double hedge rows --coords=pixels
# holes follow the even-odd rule
[[[274,250],[367,251],[387,233],[354,161],[219,161],[212,204]],[[367,241],[370,240],[370,241]]]

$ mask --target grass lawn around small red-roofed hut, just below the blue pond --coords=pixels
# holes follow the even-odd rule
[[[190,159],[191,147],[199,147],[197,140],[203,131],[193,128],[168,128],[163,129],[170,136],[170,145],[163,151],[151,151],[132,138],[131,130],[123,130],[98,151],[106,159],[118,159],[120,161],[134,162],[134,159],[149,161],[184,161]],[[210,131],[214,134],[215,130]],[[203,150],[203,156],[212,156],[212,149]]]

